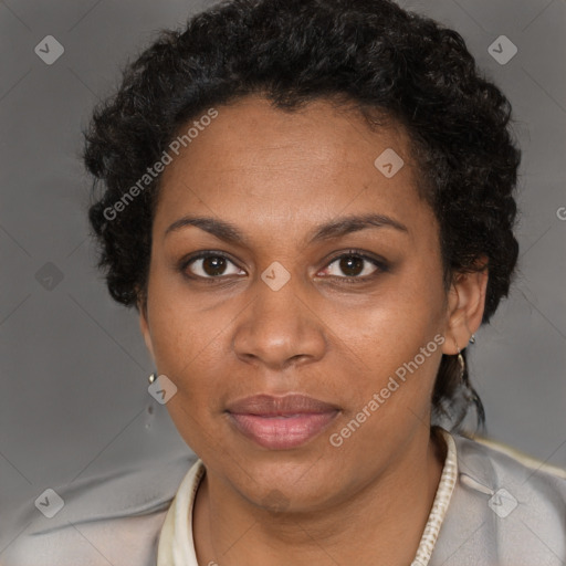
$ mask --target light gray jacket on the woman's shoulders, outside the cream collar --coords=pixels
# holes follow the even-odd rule
[[[459,478],[429,566],[565,566],[566,473],[454,440]],[[48,518],[34,502],[22,507],[0,537],[0,566],[155,566],[165,514],[196,460],[55,488],[63,509]]]

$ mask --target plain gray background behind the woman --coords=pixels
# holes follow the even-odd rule
[[[4,535],[9,510],[46,488],[188,450],[147,392],[153,367],[135,311],[111,301],[94,266],[77,156],[93,105],[126,60],[210,3],[0,2]],[[513,104],[524,150],[521,271],[470,363],[491,438],[566,468],[566,0],[402,6],[457,29]],[[505,65],[488,52],[502,34],[518,49]],[[65,50],[52,65],[34,53],[46,35]]]

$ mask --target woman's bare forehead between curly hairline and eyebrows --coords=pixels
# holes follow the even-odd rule
[[[196,210],[291,228],[369,210],[405,223],[423,206],[410,139],[392,120],[370,129],[359,112],[323,99],[285,112],[249,96],[216,109],[163,174],[160,230]]]

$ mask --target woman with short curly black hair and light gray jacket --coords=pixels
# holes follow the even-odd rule
[[[8,564],[564,564],[564,473],[457,433],[517,258],[510,112],[457,32],[387,0],[164,32],[86,134],[90,220],[198,461]]]

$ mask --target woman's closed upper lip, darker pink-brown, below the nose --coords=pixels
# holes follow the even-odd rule
[[[313,397],[290,394],[282,397],[254,395],[228,405],[228,412],[240,415],[284,416],[313,412],[334,412],[338,408]]]

